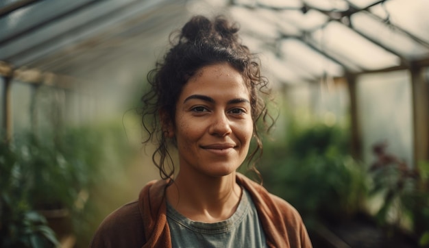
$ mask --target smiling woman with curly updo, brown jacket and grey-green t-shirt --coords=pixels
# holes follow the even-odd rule
[[[149,73],[143,126],[162,179],[110,214],[91,247],[311,247],[297,211],[236,172],[246,159],[253,167],[256,123],[269,119],[267,81],[237,32],[222,16],[195,16]]]

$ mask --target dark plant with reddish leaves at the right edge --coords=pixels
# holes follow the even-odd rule
[[[371,197],[381,197],[374,216],[392,235],[408,232],[419,245],[429,246],[429,162],[411,168],[387,152],[387,144],[373,146],[376,161],[370,167]]]

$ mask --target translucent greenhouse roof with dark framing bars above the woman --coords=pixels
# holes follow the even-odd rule
[[[86,77],[130,60],[137,73],[189,16],[220,13],[241,25],[275,81],[297,84],[428,66],[427,10],[429,1],[417,0],[8,0],[0,2],[0,61]]]

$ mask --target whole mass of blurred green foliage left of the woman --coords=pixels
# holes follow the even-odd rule
[[[99,182],[115,180],[112,171],[135,158],[121,123],[20,134],[0,148],[0,247],[38,247],[35,240],[55,237],[44,214],[59,208],[68,212],[66,231],[73,232],[75,247],[87,247],[101,218],[93,202]],[[16,245],[20,240],[27,243]]]

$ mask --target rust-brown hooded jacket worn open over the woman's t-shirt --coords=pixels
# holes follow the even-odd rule
[[[312,247],[301,216],[289,203],[237,173],[252,195],[268,247]],[[138,201],[112,212],[99,226],[90,247],[171,247],[164,190],[167,181],[149,182]]]

